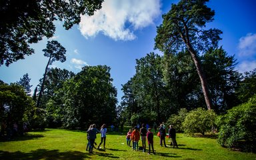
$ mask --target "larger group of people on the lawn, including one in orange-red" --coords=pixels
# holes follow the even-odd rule
[[[155,126],[154,126],[155,128]],[[157,133],[157,135],[160,137],[160,145],[161,147],[163,147],[163,145],[165,147],[167,147],[166,143],[165,143],[165,137],[166,137],[166,131],[165,131],[165,125],[164,123],[161,123],[161,125],[159,126],[159,132]],[[168,137],[169,139],[171,139],[171,144],[173,145],[173,148],[177,147],[177,141],[176,141],[176,131],[175,128],[173,127],[173,125],[169,125],[169,130],[168,130]],[[141,142],[142,142],[142,151],[145,152],[146,151],[146,140],[148,142],[149,145],[149,151],[148,154],[151,154],[151,149],[152,149],[152,153],[155,154],[154,151],[154,146],[153,146],[153,133],[151,132],[151,128],[146,128],[146,125],[143,123],[142,127],[139,129],[137,126],[133,127],[133,129],[129,129],[127,135],[126,135],[126,139],[127,139],[127,145],[129,145],[129,147],[131,147],[131,141],[132,143],[132,148],[133,150],[137,150],[139,151],[139,138],[141,137]]]

